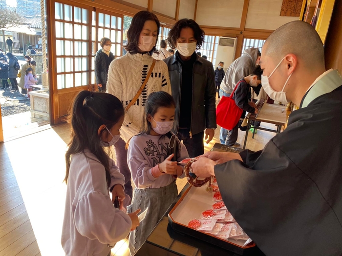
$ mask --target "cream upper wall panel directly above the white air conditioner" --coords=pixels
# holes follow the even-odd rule
[[[196,22],[205,26],[240,27],[243,0],[198,0]]]

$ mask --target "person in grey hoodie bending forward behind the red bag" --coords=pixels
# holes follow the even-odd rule
[[[220,85],[220,97],[230,97],[235,85],[241,78],[249,76],[253,69],[260,64],[260,50],[258,48],[252,47],[244,51],[243,55],[233,61],[228,67],[226,75],[224,76]],[[221,127],[220,130],[220,141],[221,144],[232,143],[227,140],[229,138],[228,130]],[[233,137],[232,137],[233,138]],[[239,146],[239,143],[235,143]]]

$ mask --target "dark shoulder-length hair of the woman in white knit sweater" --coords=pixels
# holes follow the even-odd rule
[[[155,23],[157,23],[157,39],[155,44],[157,44],[158,36],[159,36],[159,28],[160,23],[157,18],[157,16],[154,13],[148,12],[148,11],[140,11],[137,14],[134,15],[132,22],[130,23],[130,26],[127,31],[127,45],[125,46],[126,51],[128,51],[130,54],[136,54],[139,52],[139,38],[140,33],[143,30],[145,21],[147,20],[153,20]],[[152,50],[148,53],[149,55],[152,55],[153,53],[158,54],[159,51],[153,46]]]

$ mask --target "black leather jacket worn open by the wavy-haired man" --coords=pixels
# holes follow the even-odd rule
[[[169,67],[172,97],[176,103],[173,131],[178,133],[182,68],[176,54],[164,61]],[[192,71],[192,115],[189,117],[193,135],[203,132],[206,128],[216,128],[215,95],[213,64],[196,55]]]

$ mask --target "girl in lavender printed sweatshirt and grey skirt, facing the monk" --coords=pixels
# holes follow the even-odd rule
[[[153,92],[145,105],[141,132],[131,138],[128,147],[128,166],[136,186],[128,212],[137,209],[148,212],[140,226],[129,236],[129,250],[134,255],[177,197],[176,178],[184,177],[177,164],[189,158],[186,147],[178,140],[176,159],[169,154],[175,103],[166,92]]]

